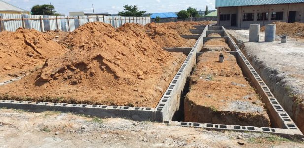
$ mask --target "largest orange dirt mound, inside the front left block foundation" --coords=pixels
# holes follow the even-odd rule
[[[101,22],[87,23],[61,42],[72,50],[0,87],[10,96],[1,99],[155,107],[185,59],[164,51],[145,33],[116,31]]]

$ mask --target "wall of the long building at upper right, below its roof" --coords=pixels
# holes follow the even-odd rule
[[[237,14],[237,27],[249,28],[250,24],[261,24],[261,26],[271,24],[273,22],[288,22],[289,11],[300,11],[296,22],[304,23],[304,3],[297,4],[278,4],[278,5],[262,5],[262,6],[242,6],[242,7],[221,7],[218,8],[217,22],[220,26],[231,27],[231,14]],[[268,20],[257,21],[257,13],[268,12]],[[271,20],[271,12],[283,12],[282,20]],[[254,13],[253,21],[243,21],[244,13]],[[229,21],[220,21],[221,14],[230,14]]]

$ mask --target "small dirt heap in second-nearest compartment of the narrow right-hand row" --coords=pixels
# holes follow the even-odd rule
[[[231,51],[224,38],[214,38],[206,41],[202,52],[206,51]]]

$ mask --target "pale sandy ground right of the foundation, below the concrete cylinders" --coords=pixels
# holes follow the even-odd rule
[[[292,38],[286,44],[277,40],[248,42],[249,30],[230,30],[241,50],[270,90],[304,133],[304,43]]]

